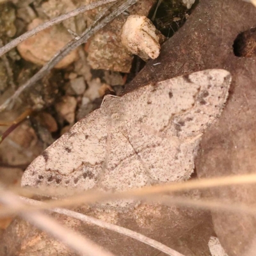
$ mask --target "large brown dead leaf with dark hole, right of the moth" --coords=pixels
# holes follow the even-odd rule
[[[205,68],[225,68],[232,74],[227,106],[201,143],[201,154],[196,161],[199,177],[255,172],[256,65],[255,54],[248,53],[254,49],[251,28],[255,22],[256,8],[250,3],[200,1],[184,27],[163,45],[160,57],[147,63],[126,88],[129,91],[150,81],[162,81]],[[245,56],[252,58],[238,58],[234,54],[234,41],[243,31],[250,31],[244,34],[243,44]],[[212,189],[211,196],[225,200],[225,204],[255,204],[256,191],[255,186],[233,186]],[[212,218],[214,230],[229,256],[255,255],[255,218],[217,211]]]

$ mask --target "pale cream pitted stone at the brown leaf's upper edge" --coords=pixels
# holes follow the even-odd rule
[[[159,56],[160,44],[164,39],[150,19],[140,15],[128,17],[122,28],[121,37],[122,44],[145,61]]]

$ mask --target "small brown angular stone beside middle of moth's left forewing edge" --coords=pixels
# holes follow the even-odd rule
[[[76,105],[77,101],[75,97],[65,96],[61,102],[55,105],[55,108],[59,115],[67,120],[69,124],[74,124]]]

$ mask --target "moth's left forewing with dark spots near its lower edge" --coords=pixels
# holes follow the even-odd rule
[[[28,166],[22,186],[93,188],[106,155],[107,124],[102,109],[77,122]]]

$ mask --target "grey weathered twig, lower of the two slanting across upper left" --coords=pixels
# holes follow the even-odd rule
[[[127,8],[129,8],[132,4],[136,3],[138,0],[127,0],[123,4],[119,6],[119,8],[116,8],[113,12],[111,12],[107,17],[102,19],[102,21],[94,26],[92,26],[80,36],[80,38],[76,38],[72,41],[70,41],[67,45],[65,45],[58,53],[55,54],[55,56],[42,67],[35,76],[31,77],[25,84],[19,87],[19,89],[10,97],[7,99],[1,106],[0,106],[0,112],[4,109],[8,108],[8,106],[12,106],[12,104],[15,102],[15,100],[19,97],[20,93],[22,93],[25,89],[31,87],[33,84],[35,84],[38,80],[42,79],[42,77],[47,74],[51,68],[53,68],[58,62],[60,62],[65,56],[67,56],[71,51],[79,47],[79,45],[84,44],[87,42],[87,40],[94,35],[97,31],[102,29],[106,24],[111,22],[111,20],[115,19],[120,13],[124,12]]]

